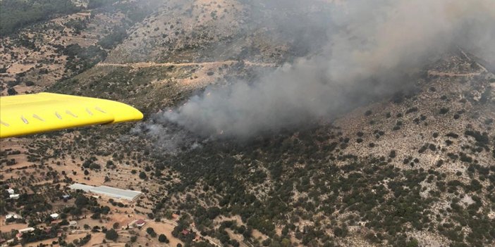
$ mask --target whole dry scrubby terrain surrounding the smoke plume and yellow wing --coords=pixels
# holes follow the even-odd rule
[[[114,99],[145,120],[2,139],[0,239],[28,246],[494,245],[491,53],[448,47],[400,77],[393,94],[249,139],[205,137],[164,117],[207,88],[252,85],[326,51],[326,30],[346,30],[326,20],[333,2],[291,1],[281,10],[279,0],[82,1],[75,13],[2,37],[2,95]],[[75,182],[144,196],[94,198],[68,189]],[[11,213],[22,219],[8,221]],[[145,227],[126,227],[139,219]],[[43,231],[17,238],[28,226]]]

